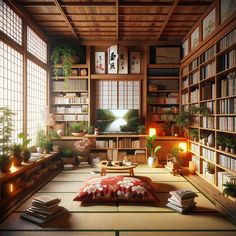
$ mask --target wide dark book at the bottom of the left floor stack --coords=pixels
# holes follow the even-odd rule
[[[65,214],[65,213],[68,213],[68,210],[65,209],[64,207],[61,207],[60,211],[58,211],[57,213],[55,213],[55,214],[53,214],[53,215],[51,215],[51,216],[49,216],[45,219],[39,218],[38,214],[37,215],[32,215],[32,213],[30,213],[30,214],[23,213],[23,214],[21,214],[20,218],[23,219],[23,220],[29,221],[31,223],[34,223],[36,225],[43,226],[46,223],[48,223],[49,221],[53,220],[54,218],[59,217],[62,214]]]

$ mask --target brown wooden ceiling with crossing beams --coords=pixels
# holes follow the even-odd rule
[[[49,37],[179,41],[212,0],[17,0]]]

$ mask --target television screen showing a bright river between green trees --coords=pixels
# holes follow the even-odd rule
[[[97,109],[99,133],[136,133],[139,125],[139,110]]]

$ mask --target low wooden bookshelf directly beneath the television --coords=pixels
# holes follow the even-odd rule
[[[104,134],[86,135],[91,140],[90,158],[100,157],[121,161],[126,157],[137,163],[146,163],[147,135],[138,134]]]

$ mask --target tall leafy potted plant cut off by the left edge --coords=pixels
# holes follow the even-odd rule
[[[11,168],[10,142],[13,131],[14,113],[8,107],[0,108],[0,169],[8,172]]]

